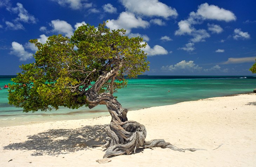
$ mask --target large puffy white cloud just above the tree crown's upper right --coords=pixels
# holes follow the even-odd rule
[[[147,28],[149,23],[140,17],[135,17],[133,13],[122,12],[117,20],[108,20],[106,26],[110,29],[126,29],[130,33],[132,28]]]

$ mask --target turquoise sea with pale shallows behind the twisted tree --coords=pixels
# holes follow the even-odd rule
[[[106,106],[93,109],[80,107],[69,109],[23,113],[22,108],[8,104],[8,89],[15,76],[0,76],[0,127],[15,126],[59,120],[89,119],[109,115]],[[150,76],[141,75],[128,79],[126,88],[114,93],[123,108],[128,111],[164,106],[211,97],[228,96],[239,93],[253,93],[256,76]],[[157,112],[157,111],[156,111]],[[129,116],[129,115],[128,115]],[[128,117],[129,119],[129,117]],[[110,121],[110,120],[109,120]]]

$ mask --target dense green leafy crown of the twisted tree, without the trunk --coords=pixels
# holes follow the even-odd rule
[[[53,35],[45,44],[30,40],[38,48],[35,63],[22,65],[22,73],[12,79],[9,104],[24,112],[88,106],[86,91],[101,75],[122,64],[99,91],[113,93],[127,85],[124,75],[136,77],[148,70],[142,38],[128,38],[125,30],[110,31],[105,25],[82,25],[72,38]]]

